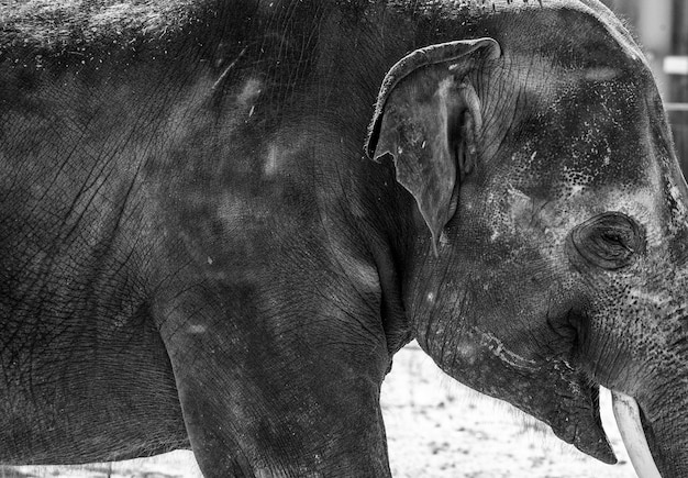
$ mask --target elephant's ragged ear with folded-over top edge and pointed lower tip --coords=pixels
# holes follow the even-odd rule
[[[376,162],[393,158],[397,181],[415,199],[435,255],[482,124],[479,99],[465,79],[500,55],[492,38],[432,45],[392,66],[380,88],[366,153]]]

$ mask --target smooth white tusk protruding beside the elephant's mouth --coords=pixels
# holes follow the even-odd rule
[[[647,438],[641,424],[641,413],[633,397],[611,391],[611,407],[629,457],[639,478],[662,478],[650,453]]]

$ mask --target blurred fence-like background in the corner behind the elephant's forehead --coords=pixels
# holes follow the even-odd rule
[[[602,0],[625,20],[651,62],[688,176],[688,1]]]

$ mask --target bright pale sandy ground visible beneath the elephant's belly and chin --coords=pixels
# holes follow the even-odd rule
[[[444,376],[417,345],[395,357],[382,386],[392,475],[398,478],[633,478],[613,423],[602,420],[620,464],[603,465],[556,438],[510,405]],[[0,478],[200,478],[190,452],[80,467],[0,468]]]

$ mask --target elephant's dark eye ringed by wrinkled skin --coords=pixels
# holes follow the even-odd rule
[[[630,265],[644,251],[641,226],[620,212],[606,212],[579,224],[569,236],[572,253],[608,270]]]

